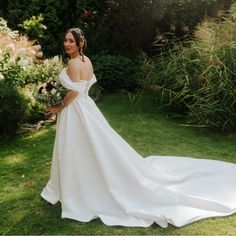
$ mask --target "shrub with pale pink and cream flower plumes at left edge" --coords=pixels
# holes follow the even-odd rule
[[[27,72],[41,62],[41,47],[25,36],[13,34],[2,18],[0,24],[3,26],[0,28],[0,73],[7,83],[22,86]]]

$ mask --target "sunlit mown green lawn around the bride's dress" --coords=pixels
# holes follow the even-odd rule
[[[140,154],[219,159],[236,163],[236,137],[180,126],[147,104],[130,107],[124,95],[106,95],[98,106],[112,127]],[[55,125],[15,139],[0,140],[0,234],[4,235],[235,235],[236,214],[182,228],[108,227],[99,219],[81,223],[60,218],[39,196],[50,171]],[[86,181],[86,180],[85,180]]]

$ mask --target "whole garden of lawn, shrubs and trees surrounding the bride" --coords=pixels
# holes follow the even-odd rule
[[[234,235],[236,216],[183,228],[107,227],[60,219],[40,199],[56,119],[37,100],[58,81],[63,37],[81,27],[97,83],[90,96],[142,156],[236,163],[233,0],[0,0],[0,234]]]

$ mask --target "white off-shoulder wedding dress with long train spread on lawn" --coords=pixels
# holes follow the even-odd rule
[[[236,212],[236,165],[187,157],[143,158],[108,124],[88,91],[96,78],[61,84],[79,95],[58,114],[51,176],[41,196],[62,218],[106,225],[183,226]]]

